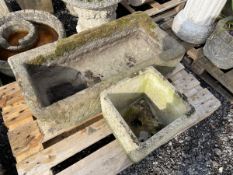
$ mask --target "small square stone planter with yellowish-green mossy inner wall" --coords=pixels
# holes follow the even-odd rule
[[[101,93],[103,116],[130,159],[142,160],[187,128],[194,108],[153,67]]]

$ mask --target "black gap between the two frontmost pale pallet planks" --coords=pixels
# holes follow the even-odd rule
[[[88,155],[92,154],[93,152],[97,151],[98,149],[106,146],[110,142],[114,141],[115,137],[113,134],[99,140],[98,142],[92,144],[88,148],[82,150],[81,152],[73,155],[72,157],[66,159],[65,161],[59,163],[58,165],[51,168],[53,174],[58,174],[59,172],[63,171],[64,169],[72,166],[76,162],[82,160],[83,158],[87,157]]]

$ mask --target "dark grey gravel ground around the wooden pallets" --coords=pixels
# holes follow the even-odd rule
[[[20,9],[15,0],[7,2],[14,10]],[[54,0],[54,8],[55,15],[64,23],[67,36],[75,33],[77,18],[68,14],[61,0]],[[0,75],[0,78],[5,77]],[[120,175],[233,174],[233,105],[204,82],[202,85],[221,100],[219,110]],[[0,116],[0,175],[1,164],[5,174],[14,175],[17,174],[15,161],[6,133]]]

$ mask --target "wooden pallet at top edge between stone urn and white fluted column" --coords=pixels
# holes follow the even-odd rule
[[[147,13],[149,16],[155,16],[158,14],[161,14],[162,12],[173,10],[177,11],[177,8],[183,8],[186,0],[167,0],[167,2],[160,4],[159,2],[156,2],[156,0],[148,0],[147,3],[145,3],[148,8],[144,10],[145,13]],[[136,7],[132,7],[128,4],[127,0],[122,1],[121,4],[130,12],[134,13],[136,11],[142,11],[141,9],[138,9]],[[145,6],[144,5],[144,6]]]

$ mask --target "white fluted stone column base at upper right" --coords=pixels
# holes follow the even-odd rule
[[[175,17],[174,33],[182,40],[202,44],[213,30],[213,24],[227,0],[188,0]]]

